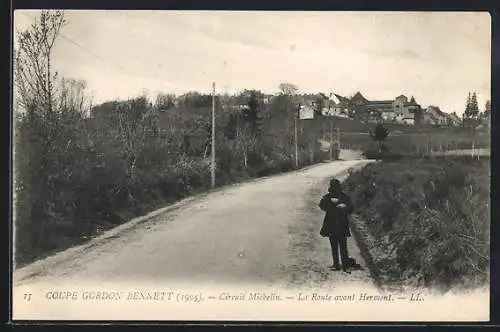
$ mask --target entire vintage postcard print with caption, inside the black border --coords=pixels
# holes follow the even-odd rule
[[[489,320],[489,13],[15,10],[12,38],[13,320]]]

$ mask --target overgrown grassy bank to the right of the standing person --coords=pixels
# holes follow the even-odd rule
[[[385,285],[447,290],[488,281],[489,159],[377,163],[345,186]]]

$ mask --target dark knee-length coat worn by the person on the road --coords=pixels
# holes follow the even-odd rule
[[[339,203],[344,203],[346,207],[338,208],[337,204],[333,203],[331,198],[338,198]],[[342,238],[351,236],[349,230],[349,214],[354,211],[351,199],[345,193],[333,194],[329,192],[324,195],[319,202],[321,210],[325,211],[323,226],[321,227],[321,236]]]

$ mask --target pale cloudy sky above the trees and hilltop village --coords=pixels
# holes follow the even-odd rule
[[[39,11],[14,13],[22,31]],[[490,98],[491,21],[474,12],[65,11],[52,63],[93,102],[146,93],[414,96],[463,113]],[[15,47],[15,43],[14,43]]]

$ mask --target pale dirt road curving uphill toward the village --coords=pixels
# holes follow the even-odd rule
[[[355,158],[356,155],[344,155]],[[341,156],[342,158],[342,156]],[[368,272],[330,272],[317,207],[328,181],[366,160],[341,160],[200,195],[175,209],[14,272],[14,285],[71,281],[337,286]],[[364,264],[353,238],[350,255]]]

